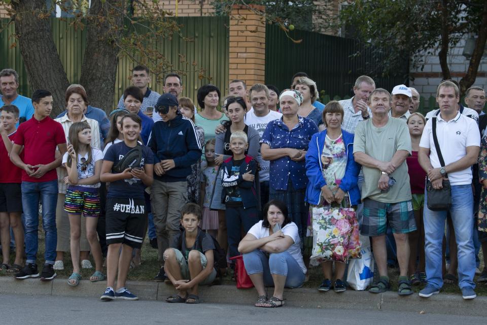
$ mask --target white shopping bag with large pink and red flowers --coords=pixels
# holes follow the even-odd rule
[[[360,258],[359,223],[353,208],[312,207],[313,250],[309,264]]]

